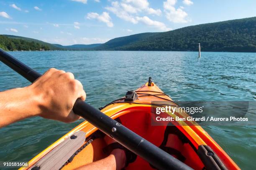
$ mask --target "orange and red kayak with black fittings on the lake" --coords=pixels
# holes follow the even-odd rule
[[[175,145],[182,145],[182,149],[171,148],[165,151],[193,169],[240,169],[201,126],[152,125],[152,101],[172,102],[172,99],[149,79],[137,90],[128,91],[125,97],[110,102],[100,110],[160,148],[168,138],[166,133],[171,131],[179,138],[173,142]],[[103,151],[106,147],[103,138],[104,134],[85,120],[36,155],[28,162],[28,167],[22,167],[20,170],[73,170],[90,164],[108,156]],[[175,152],[172,152],[173,150]],[[125,169],[154,170],[154,167],[137,156]]]

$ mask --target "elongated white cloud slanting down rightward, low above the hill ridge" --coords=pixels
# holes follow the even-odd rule
[[[136,20],[140,21],[141,23],[144,23],[145,25],[158,28],[162,31],[169,31],[172,30],[171,28],[167,28],[164,23],[161,23],[159,21],[154,21],[148,18],[147,16],[144,17],[136,17]]]

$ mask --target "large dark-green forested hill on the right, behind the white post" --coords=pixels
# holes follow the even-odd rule
[[[119,37],[95,50],[256,52],[256,17]]]

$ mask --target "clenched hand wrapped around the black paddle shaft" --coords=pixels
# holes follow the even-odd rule
[[[71,72],[51,68],[28,89],[37,96],[38,116],[66,123],[79,119],[72,108],[78,98],[85,100],[86,93]]]

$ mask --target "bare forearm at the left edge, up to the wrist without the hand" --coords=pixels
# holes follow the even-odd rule
[[[40,114],[37,101],[30,86],[0,92],[0,128]]]

